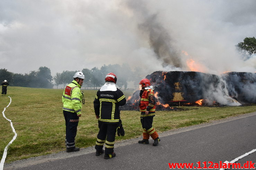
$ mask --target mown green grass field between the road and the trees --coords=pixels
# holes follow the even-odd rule
[[[93,100],[97,90],[85,92],[85,104],[78,125],[76,144],[85,148],[94,146],[98,122],[95,118]],[[13,123],[18,134],[10,145],[6,162],[55,153],[65,150],[65,121],[62,113],[63,89],[36,89],[8,87],[7,96],[12,101],[5,115]],[[126,98],[132,91],[124,91]],[[0,97],[0,110],[9,104],[10,98]],[[157,111],[153,126],[158,132],[191,126],[256,111],[256,105],[243,107],[179,107],[183,111]],[[121,111],[125,136],[116,140],[142,136],[139,111]],[[14,136],[10,122],[0,116],[0,156]]]

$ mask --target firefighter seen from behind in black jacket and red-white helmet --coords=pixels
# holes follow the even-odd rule
[[[98,90],[94,100],[94,111],[98,119],[99,132],[95,144],[96,156],[104,153],[104,159],[114,158],[115,135],[120,121],[119,106],[126,103],[124,93],[116,88],[117,77],[114,73],[108,73],[105,84]]]

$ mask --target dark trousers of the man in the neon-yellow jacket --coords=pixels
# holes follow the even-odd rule
[[[69,149],[75,147],[75,137],[77,136],[77,126],[79,117],[76,112],[69,112],[63,110],[65,122],[66,122],[66,146]]]

